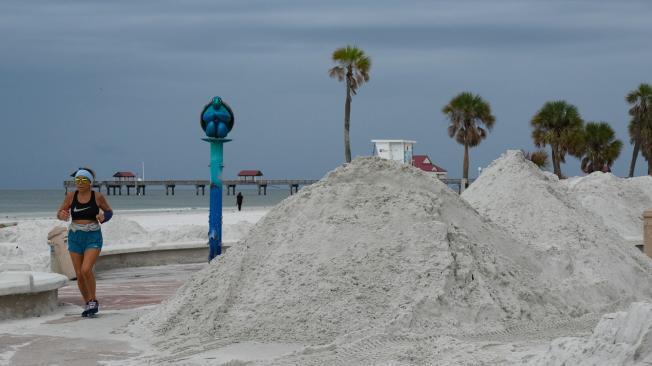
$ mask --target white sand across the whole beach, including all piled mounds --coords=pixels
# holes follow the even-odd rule
[[[559,180],[508,151],[459,195],[359,158],[272,208],[226,211],[234,244],[210,264],[100,274],[105,347],[75,352],[109,365],[646,364],[652,263],[635,244],[650,184]],[[201,242],[206,216],[118,212],[106,245]],[[55,225],[1,229],[3,261],[47,270]],[[1,323],[0,360],[29,364],[30,347],[89,331],[74,287],[61,293],[72,303],[55,313]]]

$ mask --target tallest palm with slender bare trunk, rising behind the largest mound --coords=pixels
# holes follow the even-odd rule
[[[351,95],[357,93],[358,88],[369,81],[371,59],[364,51],[353,46],[338,48],[333,52],[333,62],[337,66],[328,71],[332,78],[338,81],[346,80],[346,102],[344,103],[344,158],[351,162],[351,142],[349,139],[349,122],[351,119]]]

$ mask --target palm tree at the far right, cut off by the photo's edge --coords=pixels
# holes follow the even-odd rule
[[[633,177],[638,152],[643,143],[643,130],[646,127],[650,128],[650,125],[652,125],[652,86],[645,83],[639,85],[638,89],[632,90],[627,94],[625,100],[631,106],[629,114],[632,116],[632,120],[629,123],[629,137],[630,143],[634,144],[634,152],[632,153],[632,160],[629,164],[629,177]]]

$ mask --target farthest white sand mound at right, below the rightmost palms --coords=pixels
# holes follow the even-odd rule
[[[582,206],[602,219],[606,228],[627,240],[642,242],[643,211],[652,209],[652,195],[641,188],[649,185],[652,189],[652,181],[635,179],[595,172],[561,182],[568,186]]]

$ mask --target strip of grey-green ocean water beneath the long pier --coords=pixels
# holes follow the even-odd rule
[[[152,187],[153,188],[153,187]],[[289,197],[290,190],[268,188],[267,195],[258,195],[257,189],[241,189],[244,196],[243,208],[246,207],[272,207]],[[127,196],[122,191],[122,196],[107,196],[109,204],[114,210],[164,210],[164,209],[208,209],[209,192],[199,196],[192,189],[177,189],[174,196],[165,195],[165,189],[147,189],[144,196],[136,196],[131,192]],[[21,217],[54,217],[57,209],[63,202],[63,189],[48,190],[1,190],[0,189],[0,219]],[[223,190],[223,207],[236,207],[235,196],[226,195]]]

